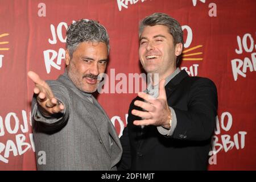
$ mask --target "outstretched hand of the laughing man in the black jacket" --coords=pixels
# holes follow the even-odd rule
[[[164,82],[165,80],[159,82],[159,96],[157,98],[153,98],[143,92],[138,93],[138,96],[146,102],[139,100],[134,102],[135,106],[141,107],[144,110],[133,109],[131,111],[131,114],[142,118],[142,120],[135,120],[133,122],[134,125],[155,125],[170,128],[171,110],[167,104]]]

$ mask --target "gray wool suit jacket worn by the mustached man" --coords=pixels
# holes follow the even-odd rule
[[[81,92],[67,72],[47,81],[65,105],[64,114],[45,118],[32,100],[32,129],[39,170],[115,170],[122,147],[97,100]],[[93,103],[87,97],[92,97]]]

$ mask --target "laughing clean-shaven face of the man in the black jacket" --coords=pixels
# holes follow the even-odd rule
[[[159,73],[162,80],[176,69],[176,58],[182,43],[174,46],[174,39],[163,25],[144,27],[139,44],[139,59],[147,73]]]

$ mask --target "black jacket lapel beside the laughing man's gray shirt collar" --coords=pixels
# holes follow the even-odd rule
[[[188,77],[188,73],[183,69],[179,72],[168,84],[165,86],[166,88],[166,97],[167,100],[171,96],[171,93],[177,88],[177,85],[185,78]]]

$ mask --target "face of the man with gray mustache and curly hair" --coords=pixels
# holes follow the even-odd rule
[[[82,92],[92,93],[98,88],[97,77],[104,73],[108,62],[108,48],[102,42],[82,42],[70,59],[65,55],[68,77]]]

